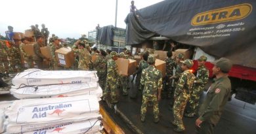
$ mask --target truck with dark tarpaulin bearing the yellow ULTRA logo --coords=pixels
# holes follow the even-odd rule
[[[192,48],[194,67],[202,54],[211,61],[225,57],[234,63],[228,73],[235,98],[256,102],[256,1],[162,1],[131,12],[125,22],[126,44],[140,47],[165,37]],[[150,45],[148,45],[150,46]]]

